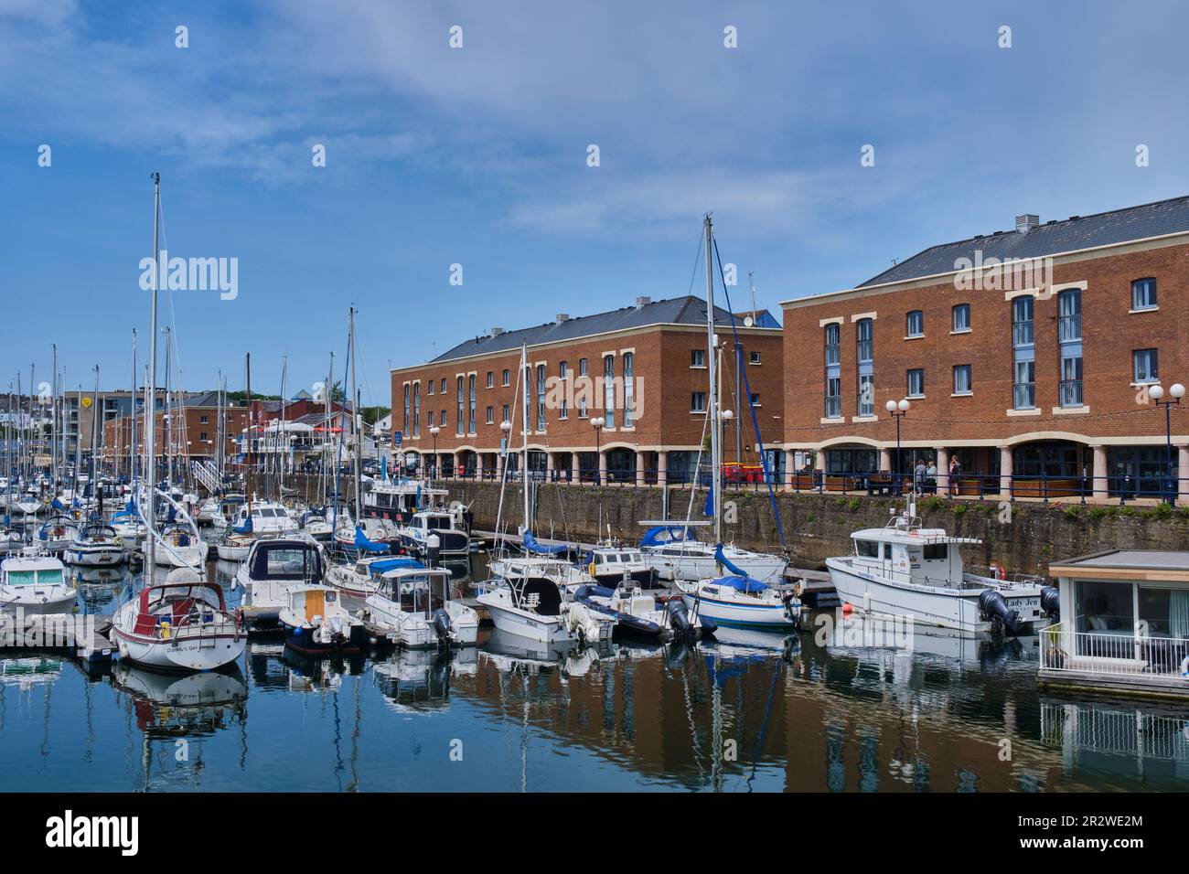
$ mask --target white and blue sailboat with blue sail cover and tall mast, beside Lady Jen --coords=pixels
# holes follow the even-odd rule
[[[768,581],[756,579],[726,554],[722,536],[722,398],[715,379],[718,340],[715,335],[715,273],[713,229],[711,219],[705,218],[706,249],[706,363],[710,388],[710,495],[706,501],[709,515],[715,521],[715,574],[694,580],[678,579],[674,585],[686,606],[699,616],[713,620],[721,625],[746,628],[787,629],[800,617],[800,602],[792,591],[773,589]],[[778,517],[779,518],[779,517]],[[736,554],[736,558],[738,555]],[[744,562],[746,565],[746,562]],[[729,573],[721,574],[719,567]],[[784,567],[781,567],[781,572]]]

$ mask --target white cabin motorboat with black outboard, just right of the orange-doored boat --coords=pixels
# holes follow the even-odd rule
[[[402,647],[471,647],[479,615],[451,598],[451,574],[442,568],[398,567],[378,574],[364,616],[394,635]]]

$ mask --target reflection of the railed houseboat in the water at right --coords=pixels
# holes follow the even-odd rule
[[[1069,702],[1042,696],[1040,740],[1061,750],[1062,773],[1081,788],[1105,776],[1135,790],[1183,788],[1189,711],[1159,704]]]

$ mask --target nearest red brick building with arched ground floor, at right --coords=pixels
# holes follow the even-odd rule
[[[1157,495],[1189,383],[1189,197],[926,249],[861,285],[784,301],[784,448],[826,488],[950,459],[961,491]],[[1168,394],[1165,394],[1168,397]],[[1189,492],[1189,409],[1172,461]],[[810,461],[811,459],[811,461]],[[801,480],[804,484],[813,477]]]

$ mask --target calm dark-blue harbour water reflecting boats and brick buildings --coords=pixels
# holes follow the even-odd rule
[[[212,570],[229,590],[234,566]],[[484,557],[455,573],[465,590]],[[138,583],[89,572],[81,609],[111,612]],[[478,649],[339,662],[253,640],[234,671],[185,677],[88,677],[6,650],[0,788],[1037,792],[1189,776],[1189,708],[1040,693],[1034,637],[740,634],[549,653],[485,629]]]

